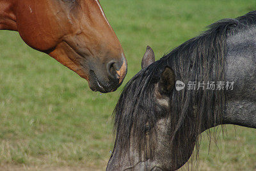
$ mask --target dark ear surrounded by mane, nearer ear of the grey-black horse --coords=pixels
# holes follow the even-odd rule
[[[172,68],[166,66],[158,83],[159,93],[168,95],[175,85],[175,74]]]

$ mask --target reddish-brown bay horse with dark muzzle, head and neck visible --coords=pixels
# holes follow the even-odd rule
[[[0,0],[0,29],[19,31],[93,91],[115,91],[126,75],[122,46],[97,0]]]

